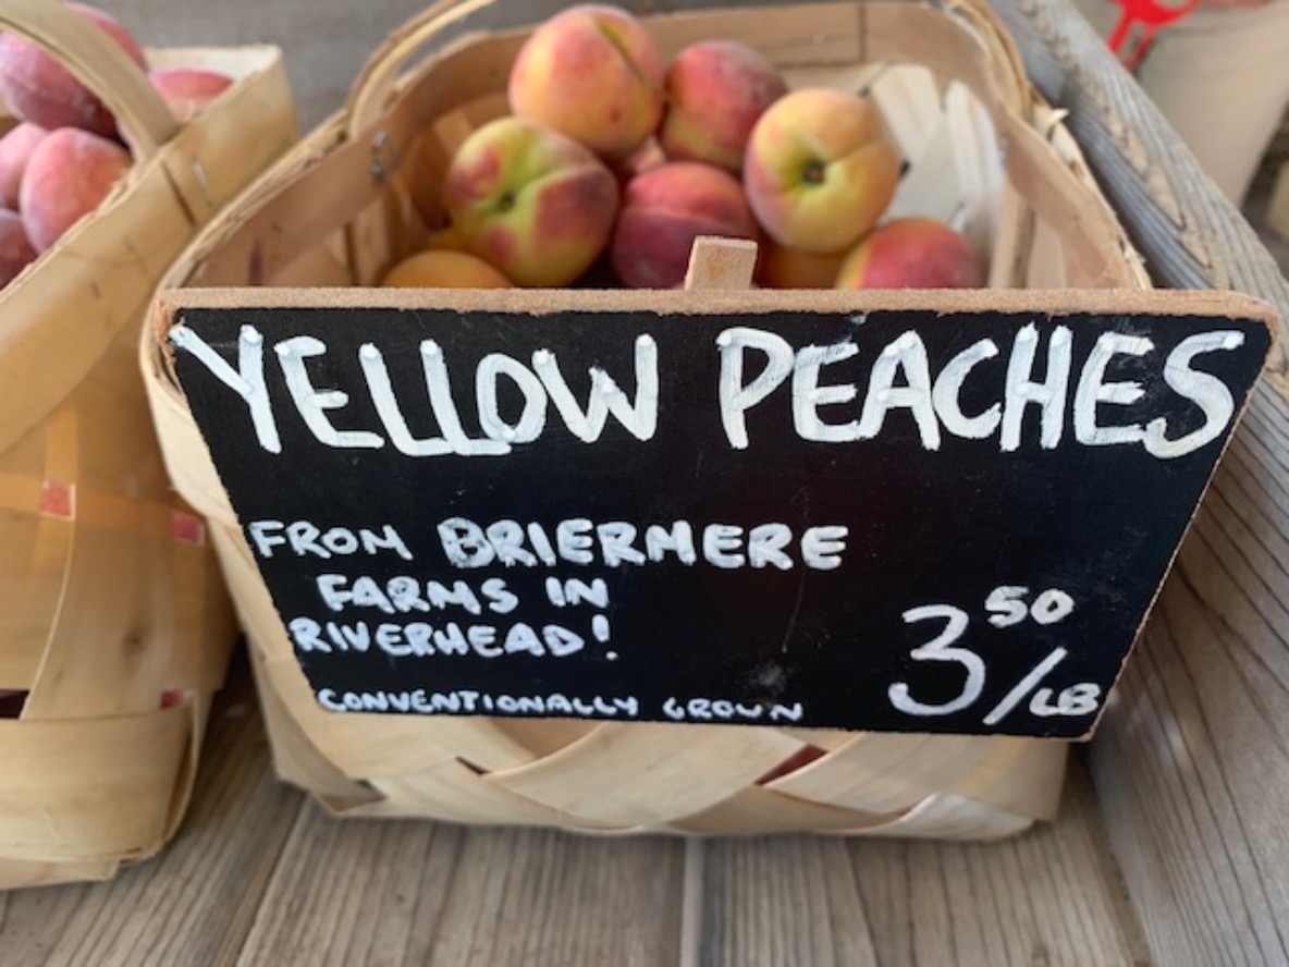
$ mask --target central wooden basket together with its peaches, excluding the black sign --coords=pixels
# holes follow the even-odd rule
[[[543,24],[456,30],[487,6],[440,3],[388,37],[344,110],[204,232],[170,284],[514,285],[558,300],[572,286],[675,286],[695,235],[730,235],[761,246],[762,286],[1147,285],[984,3],[601,8],[610,19],[566,13],[541,44]],[[630,68],[599,72],[586,36],[583,86],[552,88],[570,83],[557,48],[579,31],[610,37],[606,58]],[[739,97],[690,93],[719,92],[724,75]],[[616,98],[614,122],[579,129],[601,94]],[[786,156],[775,125],[809,122],[820,153]],[[813,201],[784,205],[788,191]],[[171,476],[210,523],[251,643],[276,767],[334,812],[982,838],[1054,810],[1066,748],[1052,740],[324,710],[165,346],[146,335],[141,351]]]

